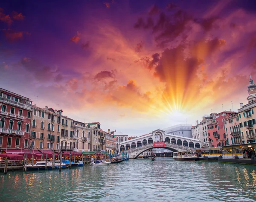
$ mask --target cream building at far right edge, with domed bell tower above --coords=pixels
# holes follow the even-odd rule
[[[238,110],[242,143],[256,142],[256,84],[253,83],[252,78],[249,82],[247,86],[248,104],[243,106],[241,103],[241,108]]]

